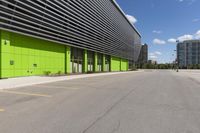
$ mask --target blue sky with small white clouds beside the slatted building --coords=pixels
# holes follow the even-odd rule
[[[174,60],[175,41],[200,39],[200,0],[116,0],[149,45],[149,58]]]

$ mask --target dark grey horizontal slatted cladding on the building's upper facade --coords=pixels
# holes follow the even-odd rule
[[[0,0],[0,29],[129,60],[141,40],[113,0]]]

